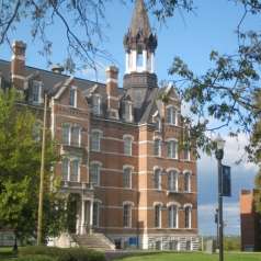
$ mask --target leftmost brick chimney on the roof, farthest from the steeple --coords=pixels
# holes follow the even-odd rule
[[[26,44],[22,41],[15,41],[12,45],[13,56],[11,61],[11,77],[14,88],[24,89],[25,78],[25,49]]]

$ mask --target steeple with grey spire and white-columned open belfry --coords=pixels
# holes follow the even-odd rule
[[[132,83],[135,83],[134,78],[143,77],[144,83],[149,81],[152,83],[150,87],[155,87],[157,84],[155,75],[157,36],[151,31],[144,0],[136,0],[135,2],[132,23],[124,36],[124,47],[126,52],[124,87],[129,87],[130,75]],[[138,81],[140,82],[140,80]]]

